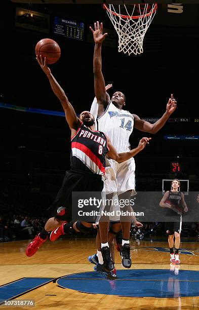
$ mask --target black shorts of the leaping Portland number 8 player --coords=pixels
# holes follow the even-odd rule
[[[50,206],[52,216],[70,221],[72,214],[72,191],[102,191],[104,182],[98,174],[66,171],[62,186]]]

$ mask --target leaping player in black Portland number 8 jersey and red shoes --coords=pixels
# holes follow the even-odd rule
[[[50,68],[46,65],[46,58],[36,56],[37,62],[47,75],[54,94],[60,100],[65,112],[66,121],[71,130],[72,158],[71,167],[66,171],[62,187],[51,206],[52,215],[45,228],[30,242],[26,255],[32,256],[47,239],[48,232],[60,227],[64,221],[71,219],[72,191],[102,191],[102,175],[105,173],[105,156],[118,163],[127,161],[141,151],[150,138],[142,138],[137,148],[129,152],[117,153],[110,140],[103,132],[94,131],[95,119],[93,115],[84,111],[77,118],[76,113],[68,101],[63,89],[55,80]],[[91,223],[77,221],[74,223],[77,231],[90,231]],[[110,258],[109,248],[102,250],[104,268],[107,272],[114,269]]]

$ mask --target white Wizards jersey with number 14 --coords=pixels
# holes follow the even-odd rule
[[[96,105],[98,106],[96,98],[94,101],[91,113],[96,110]],[[116,108],[110,101],[96,123],[98,126],[96,130],[104,132],[109,137],[117,152],[121,153],[129,150],[129,137],[133,132],[134,125],[133,115],[129,111]]]

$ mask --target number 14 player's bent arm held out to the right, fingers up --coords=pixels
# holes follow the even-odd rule
[[[173,98],[173,94],[171,94],[171,98],[169,99],[167,103],[166,112],[163,114],[160,120],[158,120],[154,124],[150,124],[149,122],[140,120],[138,115],[133,114],[134,127],[138,130],[149,132],[151,134],[155,134],[165,125],[170,115],[175,111],[176,107],[177,107],[177,101]]]

